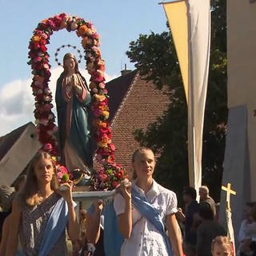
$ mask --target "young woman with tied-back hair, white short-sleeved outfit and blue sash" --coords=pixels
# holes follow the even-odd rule
[[[120,194],[114,198],[118,229],[126,238],[122,244],[121,256],[182,255],[182,238],[175,217],[176,194],[160,186],[152,178],[155,166],[152,150],[145,147],[136,150],[132,166],[137,178],[132,185],[130,182],[122,183]],[[152,215],[154,220],[150,219]],[[158,225],[159,223],[163,225]]]

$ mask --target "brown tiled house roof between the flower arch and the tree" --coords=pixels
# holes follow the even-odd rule
[[[130,170],[131,155],[139,146],[134,131],[146,130],[167,109],[170,98],[153,82],[142,79],[137,70],[124,70],[122,76],[106,83],[110,95],[110,126],[116,146],[115,161]]]

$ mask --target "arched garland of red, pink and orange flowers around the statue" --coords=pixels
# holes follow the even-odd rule
[[[97,142],[96,159],[102,168],[94,174],[94,189],[113,189],[126,176],[122,166],[114,162],[114,143],[111,142],[112,132],[107,119],[109,118],[108,94],[105,85],[105,62],[99,50],[99,35],[90,22],[77,16],[59,14],[44,19],[38,23],[30,39],[28,62],[34,75],[31,84],[35,99],[35,124],[38,130],[38,141],[51,147],[51,154],[58,155],[58,128],[54,124],[55,116],[52,94],[48,83],[50,81],[50,55],[46,45],[50,43],[50,35],[54,31],[66,29],[76,31],[82,38],[85,53],[86,70],[90,74],[90,94],[92,95],[91,110],[94,115],[94,138]],[[110,171],[112,170],[112,171]],[[103,175],[104,174],[104,175]]]

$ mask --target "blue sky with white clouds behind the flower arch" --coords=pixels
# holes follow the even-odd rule
[[[1,58],[0,58],[0,136],[9,133],[26,122],[34,122],[34,100],[30,92],[31,70],[28,61],[28,44],[34,28],[44,18],[66,13],[77,15],[94,23],[101,40],[102,58],[106,61],[106,78],[119,76],[127,65],[133,70],[134,64],[126,57],[129,43],[137,40],[139,34],[150,31],[161,33],[166,30],[166,15],[157,0],[0,0],[2,10]],[[74,32],[61,30],[50,38],[48,52],[63,44],[80,47],[80,39]],[[82,46],[80,47],[82,50]],[[68,49],[67,49],[68,50]],[[59,59],[66,52],[59,54]],[[54,62],[52,83],[61,72]],[[80,70],[85,62],[80,64]],[[53,85],[51,85],[53,86]],[[54,88],[52,89],[54,92]]]

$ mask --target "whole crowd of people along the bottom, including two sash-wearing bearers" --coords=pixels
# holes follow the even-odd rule
[[[0,256],[222,256],[234,255],[225,228],[206,186],[183,190],[184,207],[176,194],[153,178],[154,153],[149,148],[134,151],[132,176],[118,186],[108,203],[94,201],[76,214],[72,182],[61,190],[54,161],[40,151],[12,195],[8,217],[3,222]],[[238,253],[255,255],[256,204],[247,203],[238,234]]]

